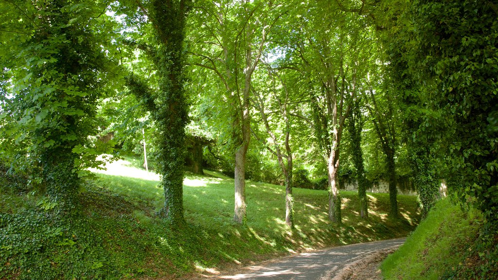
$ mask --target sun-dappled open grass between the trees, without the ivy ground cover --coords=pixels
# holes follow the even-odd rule
[[[136,209],[131,211],[131,217],[136,224],[145,229],[155,227],[154,250],[162,252],[161,258],[187,258],[192,271],[211,277],[219,272],[220,262],[242,265],[261,255],[275,257],[400,237],[413,229],[417,219],[413,216],[418,215],[416,204],[412,204],[415,199],[401,198],[400,216],[409,222],[399,228],[399,222],[387,217],[388,194],[369,193],[369,218],[365,220],[358,214],[358,194],[341,191],[343,224],[337,225],[328,218],[327,191],[294,188],[294,228],[290,228],[285,224],[285,187],[247,181],[247,221],[241,226],[233,220],[233,179],[215,177],[222,174],[212,171],[206,172],[209,176],[186,172],[184,215],[188,227],[194,229],[165,233],[168,229],[154,214],[164,203],[159,181],[137,176],[140,169],[136,163],[124,167],[128,169],[99,172],[96,185],[122,195],[133,205]],[[205,262],[206,259],[211,261]],[[175,261],[173,265],[176,266]]]

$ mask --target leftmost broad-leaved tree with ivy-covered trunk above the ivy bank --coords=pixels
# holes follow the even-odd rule
[[[96,134],[97,101],[113,64],[102,52],[107,5],[3,2],[0,61],[11,80],[8,96],[2,96],[2,118],[10,125],[1,133],[14,145],[1,149],[37,169],[34,181],[67,213],[75,205],[80,176],[99,163],[89,136]]]

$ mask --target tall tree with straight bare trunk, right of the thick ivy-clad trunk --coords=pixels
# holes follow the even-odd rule
[[[246,156],[250,141],[250,84],[266,43],[278,19],[280,5],[271,1],[206,1],[196,11],[192,64],[214,71],[222,83],[231,112],[235,149],[235,215],[246,217]]]

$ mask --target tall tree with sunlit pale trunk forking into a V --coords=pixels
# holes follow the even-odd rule
[[[345,120],[361,79],[360,34],[365,26],[356,13],[341,11],[328,1],[304,3],[301,8],[315,16],[302,16],[295,23],[290,48],[298,58],[295,68],[310,87],[315,136],[327,161],[329,218],[340,223],[339,155]]]

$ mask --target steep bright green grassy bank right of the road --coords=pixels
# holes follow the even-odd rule
[[[493,279],[477,273],[481,264],[474,251],[481,225],[476,210],[464,213],[449,199],[439,201],[406,243],[382,263],[384,279]]]

